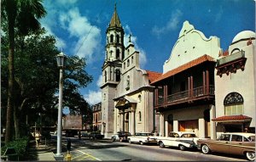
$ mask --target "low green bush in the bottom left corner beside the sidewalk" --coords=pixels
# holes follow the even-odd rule
[[[29,138],[28,137],[22,137],[20,139],[17,139],[15,141],[12,142],[8,142],[6,145],[4,145],[1,148],[1,155],[4,154],[4,152],[6,151],[7,148],[15,148],[16,153],[22,157],[23,155],[26,154],[26,148],[29,142]]]

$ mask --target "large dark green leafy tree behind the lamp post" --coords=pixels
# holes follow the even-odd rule
[[[7,38],[3,36],[2,50]],[[59,69],[55,57],[60,53],[55,47],[55,37],[46,36],[44,29],[32,32],[29,36],[16,37],[15,49],[15,107],[19,114],[15,126],[16,136],[24,135],[20,127],[34,122],[55,123],[57,118],[57,104],[59,85]],[[7,70],[7,53],[3,52],[2,69]],[[74,114],[86,111],[88,103],[79,93],[79,87],[86,87],[92,77],[85,71],[85,59],[72,56],[67,59],[64,69],[63,106],[67,106]],[[7,89],[7,74],[2,74],[3,90]],[[2,91],[2,96],[6,91]],[[3,106],[4,107],[4,106]],[[40,115],[39,115],[40,114]],[[40,117],[40,118],[39,118]],[[24,130],[24,129],[21,129]]]

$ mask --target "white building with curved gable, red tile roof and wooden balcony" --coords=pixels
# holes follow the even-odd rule
[[[217,36],[207,38],[188,21],[183,23],[163,75],[151,84],[156,87],[160,136],[195,131],[198,137],[214,137],[214,69],[220,52]]]

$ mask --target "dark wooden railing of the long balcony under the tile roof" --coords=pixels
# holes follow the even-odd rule
[[[183,92],[173,93],[167,96],[167,103],[173,103],[177,101],[186,102],[189,99],[198,98],[204,95],[214,95],[214,86],[209,85],[208,91],[207,91],[207,87],[195,87],[193,89],[193,93],[190,93],[190,95],[188,90]],[[164,101],[165,100],[163,97],[158,98],[158,105],[164,104]]]

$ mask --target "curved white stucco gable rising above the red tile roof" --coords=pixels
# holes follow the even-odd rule
[[[172,47],[171,56],[163,65],[163,73],[204,54],[217,59],[219,51],[219,38],[217,36],[207,38],[201,31],[195,30],[194,26],[189,24],[189,21],[184,21],[177,42]]]

